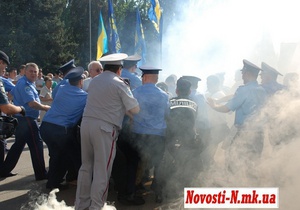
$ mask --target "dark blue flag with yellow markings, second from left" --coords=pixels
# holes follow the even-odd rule
[[[108,0],[108,43],[111,53],[121,52],[121,43],[116,26],[116,20],[114,17],[114,9],[111,0]]]

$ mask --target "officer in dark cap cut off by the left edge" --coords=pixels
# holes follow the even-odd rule
[[[1,68],[6,68],[6,66],[9,64],[9,57],[2,51],[0,51],[0,60],[5,61],[2,63],[0,61]],[[2,79],[0,79],[0,111],[7,114],[17,114],[20,113],[22,116],[25,115],[25,109],[22,106],[15,106],[13,104],[10,104],[7,99],[7,95],[5,93],[5,89],[2,83]],[[2,129],[1,129],[2,130]],[[3,136],[0,134],[0,177],[10,177],[16,175],[15,173],[4,173],[2,170],[2,164],[4,161],[4,155],[5,155],[5,145],[6,142],[3,138]]]

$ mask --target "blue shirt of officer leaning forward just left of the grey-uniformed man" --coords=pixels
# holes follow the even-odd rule
[[[73,127],[80,120],[87,99],[87,92],[69,83],[61,85],[51,108],[43,121],[64,127]]]

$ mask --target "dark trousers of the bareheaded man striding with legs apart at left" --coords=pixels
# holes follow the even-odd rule
[[[30,117],[17,117],[17,119],[19,124],[15,132],[15,143],[7,153],[1,167],[1,173],[10,173],[15,168],[25,144],[27,144],[30,150],[35,179],[45,179],[47,172],[44,161],[43,141],[37,120]]]

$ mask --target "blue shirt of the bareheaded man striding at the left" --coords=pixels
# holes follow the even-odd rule
[[[34,82],[29,81],[25,76],[20,78],[15,88],[11,91],[11,94],[14,97],[14,105],[24,106],[27,117],[38,118],[40,111],[28,105],[31,101],[41,103]]]

